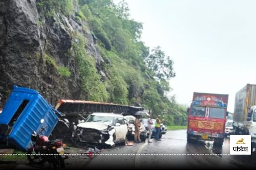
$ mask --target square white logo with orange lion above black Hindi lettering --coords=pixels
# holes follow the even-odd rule
[[[250,135],[230,135],[230,155],[251,155],[251,146]]]

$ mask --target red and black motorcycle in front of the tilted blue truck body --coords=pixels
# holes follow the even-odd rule
[[[43,122],[44,119],[41,119],[41,124]],[[65,168],[64,160],[68,157],[63,154],[66,145],[61,139],[49,140],[47,136],[40,135],[46,127],[41,127],[39,133],[32,132],[33,146],[28,149],[28,160],[34,164],[49,162],[53,168]]]

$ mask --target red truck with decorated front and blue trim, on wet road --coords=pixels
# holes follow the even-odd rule
[[[222,146],[225,134],[228,95],[194,92],[188,108],[187,142],[213,140]]]

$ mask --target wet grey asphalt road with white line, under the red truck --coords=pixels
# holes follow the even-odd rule
[[[104,150],[103,154],[180,154],[180,155],[97,155],[86,168],[254,168],[256,154],[235,155],[182,155],[182,154],[229,154],[229,137],[222,147],[213,142],[199,141],[187,144],[186,130],[168,131],[161,141],[136,143],[134,146],[117,146]]]

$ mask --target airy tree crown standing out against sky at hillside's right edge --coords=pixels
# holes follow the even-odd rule
[[[169,56],[165,57],[160,46],[151,50],[151,54],[146,57],[147,67],[155,73],[157,79],[170,79],[175,77],[173,71],[173,60]]]

